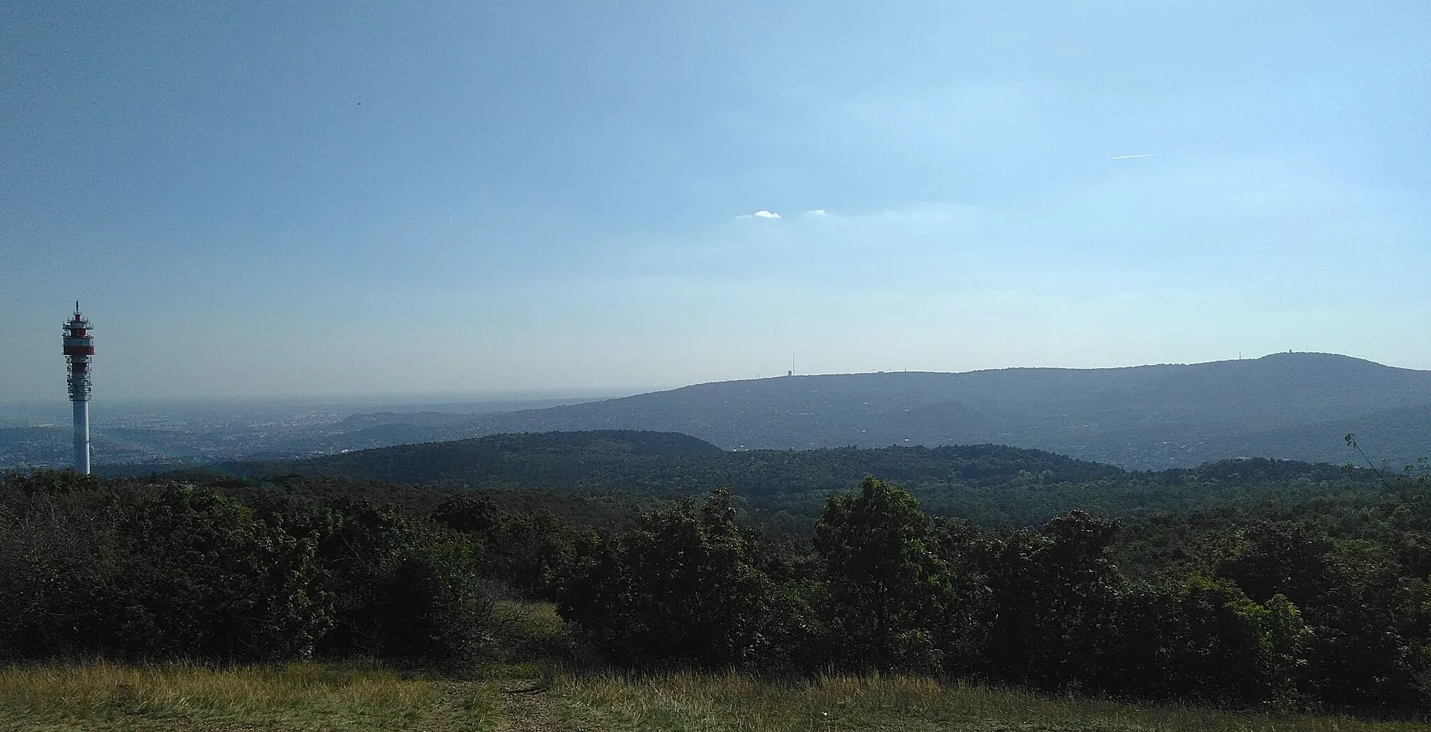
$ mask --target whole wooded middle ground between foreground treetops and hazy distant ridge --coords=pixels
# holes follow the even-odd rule
[[[866,475],[906,486],[936,515],[989,526],[1027,526],[1075,508],[1135,518],[1384,493],[1367,470],[1292,460],[1126,472],[1000,445],[723,452],[684,435],[620,430],[497,435],[228,468],[253,478],[286,476],[279,482],[289,486],[316,480],[302,490],[321,493],[349,492],[372,480],[499,495],[528,489],[524,493],[548,498],[625,496],[621,500],[730,488],[763,520],[787,528],[809,528],[826,496],[849,490]]]

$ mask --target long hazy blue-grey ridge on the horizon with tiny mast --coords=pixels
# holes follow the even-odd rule
[[[405,417],[388,416],[392,429]],[[404,427],[405,429],[405,427]],[[726,449],[996,443],[1129,469],[1238,456],[1345,463],[1431,452],[1431,372],[1325,353],[1125,369],[861,373],[717,382],[584,405],[475,415],[405,432],[643,429]]]

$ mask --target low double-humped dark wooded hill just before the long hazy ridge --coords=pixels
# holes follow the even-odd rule
[[[721,486],[744,495],[846,490],[866,475],[902,483],[954,480],[990,486],[1019,475],[1083,483],[1123,473],[1109,465],[999,445],[726,452],[687,435],[635,430],[492,435],[229,468],[248,475],[664,495]]]

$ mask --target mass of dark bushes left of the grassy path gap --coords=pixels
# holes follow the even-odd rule
[[[484,658],[488,603],[461,536],[366,503],[256,503],[170,482],[6,476],[0,659]]]

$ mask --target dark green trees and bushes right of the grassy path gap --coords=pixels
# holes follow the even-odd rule
[[[730,496],[643,516],[581,552],[561,610],[640,666],[900,671],[1231,706],[1425,709],[1424,516],[1405,543],[1224,526],[1206,563],[1133,580],[1118,525],[933,519],[877,479],[826,503],[807,556],[770,553]],[[1401,523],[1407,522],[1407,523]],[[1382,526],[1388,529],[1388,526]]]

